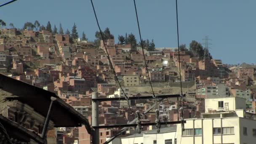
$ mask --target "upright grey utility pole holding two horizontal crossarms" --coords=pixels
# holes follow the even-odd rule
[[[98,98],[98,92],[92,93],[92,120],[91,125],[92,126],[99,126],[99,101],[94,101],[93,99]],[[99,144],[99,128],[94,127],[93,131],[93,144]]]

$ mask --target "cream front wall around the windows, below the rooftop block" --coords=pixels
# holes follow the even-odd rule
[[[177,125],[178,144],[240,144],[239,117],[191,119],[184,124],[187,128],[202,128],[202,135],[181,136],[181,124]],[[213,134],[213,128],[234,127],[234,134]],[[203,139],[202,139],[203,137]],[[221,143],[222,141],[222,143]],[[251,141],[252,142],[252,141]],[[252,144],[252,143],[248,143]]]

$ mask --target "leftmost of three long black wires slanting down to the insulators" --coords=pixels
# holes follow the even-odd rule
[[[95,19],[96,19],[96,22],[97,22],[97,25],[98,25],[98,28],[99,28],[99,31],[100,31],[100,34],[101,34],[101,39],[102,39],[102,41],[103,41],[104,48],[105,48],[106,53],[107,53],[107,59],[109,60],[110,68],[112,69],[112,71],[113,71],[113,73],[114,73],[114,75],[115,75],[115,80],[117,81],[119,87],[120,87],[121,90],[123,91],[123,94],[124,94],[124,96],[125,96],[125,99],[128,101],[128,107],[129,107],[130,111],[133,112],[133,110],[131,109],[130,102],[129,102],[129,97],[125,94],[125,91],[123,90],[123,88],[122,88],[122,86],[121,86],[121,84],[120,84],[120,82],[119,82],[119,80],[118,80],[117,74],[116,74],[115,69],[114,69],[114,67],[113,67],[113,65],[112,65],[112,62],[111,62],[111,60],[110,60],[109,53],[108,53],[108,51],[107,51],[107,47],[106,47],[106,44],[105,44],[105,41],[104,41],[104,37],[103,37],[102,31],[101,31],[101,27],[99,26],[99,21],[98,21],[98,18],[97,18],[96,11],[95,11],[95,8],[94,8],[93,1],[92,1],[92,0],[91,0],[91,5],[92,5],[92,7],[93,7],[94,16],[95,16]]]

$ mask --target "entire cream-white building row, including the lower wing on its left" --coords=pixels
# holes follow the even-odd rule
[[[177,127],[143,131],[121,138],[122,144],[255,144],[256,115],[245,112],[246,99],[219,97],[205,99],[200,119],[186,119],[185,131]]]

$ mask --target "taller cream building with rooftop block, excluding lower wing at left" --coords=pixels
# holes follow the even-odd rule
[[[245,112],[245,99],[205,99],[202,119],[187,119],[185,131],[177,125],[178,144],[255,144],[256,115]]]

